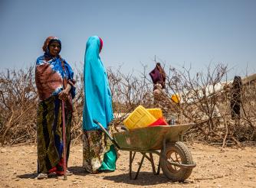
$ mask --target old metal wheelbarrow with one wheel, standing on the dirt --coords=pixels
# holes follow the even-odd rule
[[[172,181],[186,180],[196,166],[189,148],[182,142],[182,135],[192,127],[193,123],[136,128],[114,133],[113,138],[100,122],[94,120],[94,123],[100,126],[118,149],[130,151],[130,179],[137,179],[145,158],[150,161],[155,175],[159,174],[161,168],[162,173]],[[136,152],[141,153],[143,157],[140,160],[136,176],[133,178],[132,164]],[[157,170],[153,154],[159,156]]]

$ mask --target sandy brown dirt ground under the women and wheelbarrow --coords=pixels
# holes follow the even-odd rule
[[[256,147],[216,147],[185,143],[197,166],[184,183],[169,181],[162,171],[153,175],[145,160],[138,180],[129,179],[129,152],[120,151],[113,173],[85,173],[82,145],[71,145],[69,170],[74,175],[37,180],[37,151],[34,145],[0,147],[0,187],[256,187]],[[141,155],[136,155],[133,172]],[[134,173],[133,173],[134,175]]]

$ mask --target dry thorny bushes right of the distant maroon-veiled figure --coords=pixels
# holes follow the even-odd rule
[[[195,76],[190,69],[169,69],[167,93],[178,93],[182,102],[164,100],[165,105],[169,105],[177,122],[195,123],[186,138],[217,142],[222,146],[255,141],[255,81],[246,79],[242,82],[240,121],[231,119],[231,82],[227,81],[227,67],[222,64],[210,64],[206,71]]]

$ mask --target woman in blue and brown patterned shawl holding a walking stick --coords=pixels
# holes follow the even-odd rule
[[[38,57],[35,67],[35,81],[40,99],[37,116],[38,179],[47,178],[49,173],[64,173],[61,100],[65,104],[68,159],[72,99],[75,96],[73,70],[59,55],[61,41],[57,37],[48,37],[44,41],[43,50],[44,55]],[[67,171],[67,175],[71,173]]]

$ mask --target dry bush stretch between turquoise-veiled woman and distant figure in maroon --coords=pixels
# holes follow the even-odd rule
[[[133,73],[127,75],[109,69],[108,78],[110,81],[110,90],[113,98],[113,111],[115,112],[115,127],[122,125],[124,118],[138,105],[149,108],[153,103],[152,83],[144,76],[133,76]]]

